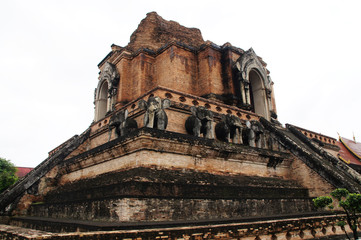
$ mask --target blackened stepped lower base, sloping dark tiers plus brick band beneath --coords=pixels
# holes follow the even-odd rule
[[[270,177],[133,168],[49,192],[32,216],[101,221],[171,221],[270,216],[312,210],[307,189]]]

